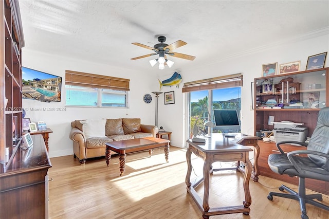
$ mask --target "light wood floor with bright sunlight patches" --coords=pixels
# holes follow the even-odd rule
[[[51,158],[49,169],[50,218],[111,218],[111,219],[194,219],[202,214],[186,191],[186,150],[171,147],[169,163],[163,149],[151,158],[148,152],[127,155],[126,169],[119,176],[119,158],[113,156],[109,167],[105,158],[87,160],[81,166],[71,156]],[[203,161],[192,157],[193,176],[202,175]],[[214,168],[231,165],[214,163]],[[210,177],[210,207],[242,205],[244,200],[243,174],[219,171]],[[214,218],[300,218],[299,203],[280,197],[267,199],[269,191],[279,191],[282,184],[276,179],[260,176],[250,180],[252,197],[249,216],[242,213],[210,216]],[[296,185],[285,184],[297,189]],[[200,196],[203,185],[198,187]],[[307,193],[313,193],[308,191]],[[329,205],[327,195],[323,203]],[[329,212],[307,204],[309,218],[329,218]]]

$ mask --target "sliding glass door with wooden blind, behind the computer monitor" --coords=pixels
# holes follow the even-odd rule
[[[188,94],[188,133],[205,135],[208,133],[240,132],[240,127],[206,127],[207,121],[215,124],[213,109],[236,110],[240,122],[242,74],[205,79],[185,83],[183,92]],[[211,110],[209,110],[211,109]]]

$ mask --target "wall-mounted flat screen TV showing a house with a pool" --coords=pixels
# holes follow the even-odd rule
[[[22,97],[44,102],[61,102],[62,77],[22,67]]]

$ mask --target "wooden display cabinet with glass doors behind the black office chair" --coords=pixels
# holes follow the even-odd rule
[[[263,92],[263,84],[271,83],[272,90]],[[272,130],[269,116],[275,122],[293,121],[308,127],[308,137],[312,136],[321,108],[329,106],[329,68],[300,71],[272,77],[254,79],[254,135],[262,129]],[[276,178],[298,185],[298,178],[280,175],[271,171],[267,159],[272,153],[279,153],[274,142],[258,141],[260,147],[260,175]],[[290,152],[302,150],[293,145],[284,145]],[[329,194],[329,182],[306,179],[306,188]]]

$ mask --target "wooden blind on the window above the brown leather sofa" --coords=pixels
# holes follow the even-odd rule
[[[129,91],[129,79],[65,71],[65,85]]]

